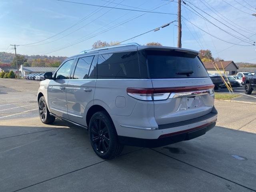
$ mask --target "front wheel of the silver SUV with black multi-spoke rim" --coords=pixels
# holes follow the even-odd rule
[[[44,96],[40,97],[38,101],[38,112],[39,117],[44,124],[51,124],[54,122],[55,117],[50,115]]]

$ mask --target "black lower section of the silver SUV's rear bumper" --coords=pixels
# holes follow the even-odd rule
[[[138,147],[160,147],[165,146],[181,141],[191,140],[193,138],[204,135],[207,131],[214,128],[216,122],[209,123],[207,125],[198,126],[191,128],[189,130],[184,130],[180,132],[174,132],[171,134],[166,134],[160,136],[158,139],[143,139],[143,138],[134,138],[126,136],[118,136],[119,142],[124,145],[138,146]]]

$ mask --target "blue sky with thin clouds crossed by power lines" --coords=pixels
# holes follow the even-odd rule
[[[9,45],[17,44],[20,45],[17,47],[18,54],[72,56],[91,49],[97,40],[122,42],[177,20],[177,0],[68,1],[165,14],[58,0],[1,0],[0,51],[14,52]],[[256,16],[251,15],[256,13],[255,0],[184,2],[182,48],[209,49],[214,57],[224,60],[256,63],[256,46],[252,46],[256,41]],[[160,42],[164,46],[176,47],[177,22],[124,43],[131,42]]]

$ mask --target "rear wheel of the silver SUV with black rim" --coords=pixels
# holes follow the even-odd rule
[[[89,137],[94,152],[103,159],[118,156],[124,148],[118,141],[112,119],[105,111],[92,115],[89,123]]]

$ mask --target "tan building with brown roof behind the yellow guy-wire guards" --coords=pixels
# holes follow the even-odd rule
[[[239,69],[238,66],[234,63],[234,61],[222,61],[222,62],[218,61],[216,62],[216,64],[214,64],[214,62],[203,62],[203,63],[207,72],[210,74],[218,74],[218,71],[216,71],[216,69],[214,68],[214,66],[216,67],[216,64],[222,74],[224,74],[224,70],[225,70],[227,75],[234,75],[237,73]],[[222,68],[222,65],[224,70]]]

